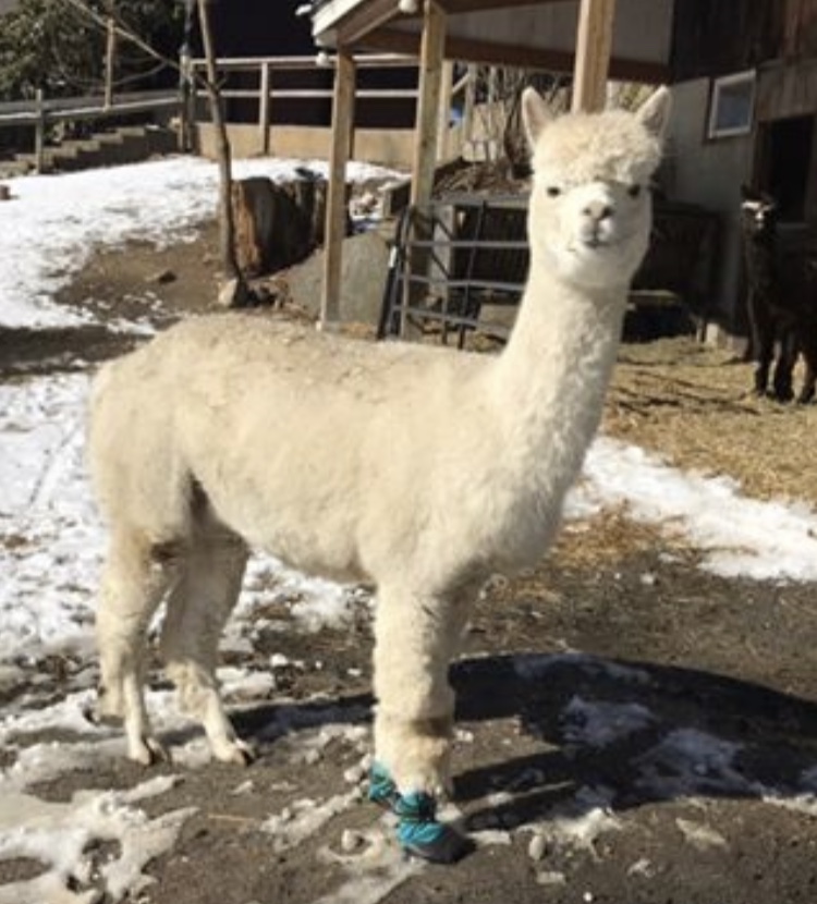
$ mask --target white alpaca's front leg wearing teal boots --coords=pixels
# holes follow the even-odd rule
[[[450,787],[454,693],[448,681],[466,616],[462,601],[380,590],[375,618],[375,766],[369,796],[400,818],[398,840],[451,863],[470,843],[436,818]]]

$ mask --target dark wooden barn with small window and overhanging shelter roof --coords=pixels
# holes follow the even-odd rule
[[[589,15],[597,30],[576,59]],[[670,83],[674,115],[659,187],[717,218],[700,248],[714,260],[705,316],[715,335],[745,329],[741,184],[777,194],[793,233],[808,232],[817,213],[815,0],[321,0],[313,30],[341,54],[399,51],[431,65],[437,54],[585,74],[595,66],[575,85],[582,106],[598,102],[608,74]],[[432,142],[434,127],[431,119],[420,123],[418,146]],[[422,192],[422,164],[414,176]]]

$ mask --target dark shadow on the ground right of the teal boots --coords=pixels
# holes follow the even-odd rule
[[[474,824],[487,814],[520,826],[599,805],[817,791],[817,704],[768,687],[578,653],[464,661],[452,680],[461,723],[514,718],[527,750],[542,742],[541,754],[456,778]]]

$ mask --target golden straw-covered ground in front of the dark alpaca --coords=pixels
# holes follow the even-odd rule
[[[602,430],[678,467],[727,474],[749,496],[817,506],[817,406],[756,398],[752,371],[691,338],[624,345]]]

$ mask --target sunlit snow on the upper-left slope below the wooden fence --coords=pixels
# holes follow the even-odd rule
[[[237,179],[291,176],[295,166],[326,175],[325,161],[236,160]],[[352,162],[349,178],[391,171]],[[162,246],[192,240],[216,211],[218,170],[195,157],[176,157],[64,175],[10,180],[12,200],[0,204],[0,326],[65,327],[84,319],[51,303],[100,245],[142,240]]]

